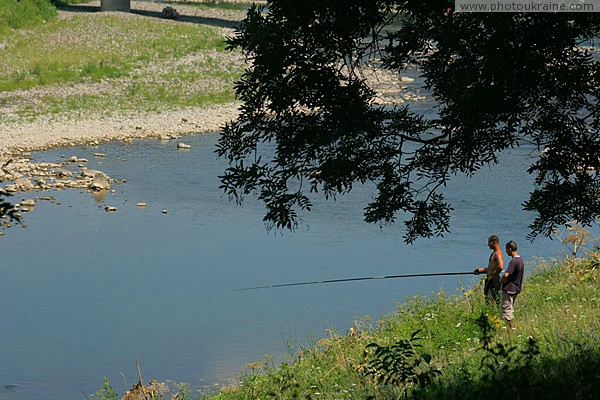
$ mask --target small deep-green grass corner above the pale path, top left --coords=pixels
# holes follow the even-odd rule
[[[0,35],[55,18],[56,8],[48,0],[0,0]]]

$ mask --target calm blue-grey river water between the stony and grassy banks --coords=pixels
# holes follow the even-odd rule
[[[472,179],[453,179],[452,233],[406,246],[402,224],[362,222],[369,187],[336,202],[317,199],[294,233],[267,232],[261,204],[249,198],[240,207],[218,189],[225,163],[214,155],[217,139],[185,137],[190,150],[139,140],[34,154],[39,161],[85,157],[90,168],[127,182],[104,200],[76,190],[37,194],[60,205],[38,202],[25,214],[27,229],[0,238],[0,399],[83,399],[104,376],[123,394],[137,381],[136,357],[146,380],[215,387],[265,354],[281,360],[325,329],[343,332],[357,318],[394,311],[407,296],[453,292],[474,278],[230,289],[470,271],[486,264],[491,234],[515,240],[528,261],[562,251],[556,240],[525,239],[533,215],[520,204],[531,189],[524,171],[533,149],[507,152]]]

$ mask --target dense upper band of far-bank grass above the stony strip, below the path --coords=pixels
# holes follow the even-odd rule
[[[0,38],[0,92],[118,78],[143,63],[224,49],[218,29],[112,15],[77,16]]]

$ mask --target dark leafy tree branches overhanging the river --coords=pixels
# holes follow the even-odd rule
[[[503,150],[540,150],[523,204],[531,237],[600,214],[600,62],[584,46],[595,14],[455,13],[445,0],[272,0],[228,40],[250,61],[235,90],[239,118],[217,153],[222,188],[256,193],[270,226],[293,228],[311,193],[335,197],[373,182],[368,222],[399,214],[405,240],[442,235],[443,186],[496,163]],[[369,63],[416,66],[435,117],[376,106]],[[543,150],[543,151],[542,151]],[[524,171],[525,173],[525,171]],[[519,177],[515,177],[519,179]]]

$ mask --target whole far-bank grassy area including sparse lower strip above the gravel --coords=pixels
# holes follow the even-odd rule
[[[243,59],[225,51],[230,33],[125,13],[90,13],[0,36],[3,122],[231,102]]]

